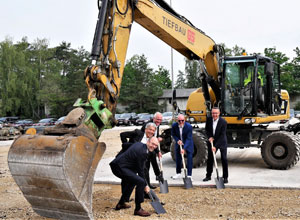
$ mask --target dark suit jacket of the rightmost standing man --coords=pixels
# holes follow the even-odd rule
[[[219,117],[219,121],[216,127],[215,135],[213,135],[213,118],[208,117],[205,124],[205,131],[208,138],[214,138],[214,147],[219,149],[227,148],[227,122]]]

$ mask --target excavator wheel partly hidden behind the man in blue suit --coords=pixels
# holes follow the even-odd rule
[[[205,164],[207,160],[207,142],[204,135],[200,132],[193,132],[193,142],[194,142],[194,153],[193,153],[193,167],[201,167]],[[172,141],[171,144],[171,156],[174,161],[175,158],[175,142]],[[186,159],[186,157],[185,157]],[[185,161],[187,162],[187,161]]]

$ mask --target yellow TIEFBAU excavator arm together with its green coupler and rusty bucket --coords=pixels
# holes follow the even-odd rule
[[[34,130],[12,144],[8,165],[32,208],[45,217],[92,219],[92,185],[106,145],[98,138],[114,126],[133,22],[188,59],[199,60],[207,106],[207,83],[219,94],[222,50],[205,33],[162,0],[102,0],[84,72],[87,101],[77,100],[66,119],[43,134]],[[141,39],[142,40],[142,39]],[[134,46],[134,45],[133,45]],[[207,82],[207,83],[206,83]],[[216,95],[217,96],[217,95]]]

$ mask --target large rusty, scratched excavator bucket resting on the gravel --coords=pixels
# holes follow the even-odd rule
[[[83,135],[22,135],[8,153],[11,174],[33,210],[93,219],[92,186],[105,144]]]

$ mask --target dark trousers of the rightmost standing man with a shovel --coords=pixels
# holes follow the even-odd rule
[[[208,146],[208,158],[207,158],[207,166],[206,166],[206,177],[211,177],[211,174],[213,172],[214,157],[211,151],[211,144],[207,143],[207,146]],[[221,161],[222,161],[222,168],[223,168],[223,178],[227,179],[228,178],[227,148],[220,149],[220,152],[221,152]]]

